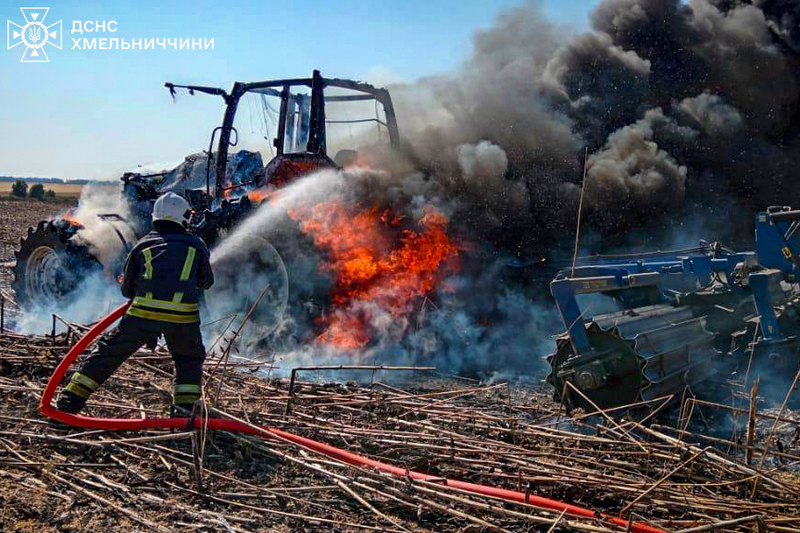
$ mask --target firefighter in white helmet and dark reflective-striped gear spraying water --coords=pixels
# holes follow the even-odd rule
[[[135,351],[164,336],[175,362],[173,403],[191,411],[200,398],[205,347],[200,336],[199,302],[214,284],[206,245],[187,233],[191,210],[168,192],[153,206],[155,228],[131,250],[122,276],[122,294],[131,306],[110,335],[82,362],[58,399],[58,408],[78,413],[86,400]],[[179,409],[176,411],[180,412]]]

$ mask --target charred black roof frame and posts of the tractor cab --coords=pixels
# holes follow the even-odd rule
[[[225,101],[225,115],[222,119],[222,126],[215,128],[212,133],[210,146],[213,146],[214,135],[219,130],[219,142],[217,144],[217,160],[215,162],[216,170],[216,187],[214,188],[215,196],[219,196],[222,191],[222,180],[225,177],[225,169],[228,163],[228,148],[230,145],[231,132],[233,131],[233,121],[236,117],[236,110],[239,105],[239,100],[248,92],[261,92],[277,96],[281,99],[281,108],[278,121],[278,129],[276,132],[275,147],[277,149],[277,156],[284,155],[283,143],[284,133],[286,131],[286,115],[287,107],[289,104],[290,90],[292,86],[304,85],[311,88],[311,116],[309,125],[309,137],[306,152],[318,155],[326,154],[326,139],[325,139],[325,101],[359,101],[359,100],[376,100],[383,106],[386,122],[378,122],[385,126],[389,132],[389,142],[392,146],[400,144],[400,133],[397,128],[397,117],[394,112],[394,105],[389,91],[384,88],[375,87],[368,83],[340,79],[340,78],[323,78],[319,70],[314,70],[311,78],[288,78],[278,80],[257,81],[251,83],[235,82],[230,93],[225,92],[223,89],[216,87],[204,87],[199,85],[176,85],[173,83],[165,83],[164,86],[170,90],[170,93],[175,96],[175,89],[188,89],[190,94],[194,91],[221,96]],[[279,87],[280,90],[274,89]],[[329,96],[325,98],[323,90],[325,87],[340,87],[343,89],[350,89],[364,93],[363,95],[341,95]],[[269,90],[272,89],[272,90]]]

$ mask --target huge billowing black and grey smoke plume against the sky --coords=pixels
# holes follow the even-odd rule
[[[502,250],[570,241],[586,152],[597,247],[695,216],[750,243],[797,197],[799,67],[794,1],[606,0],[578,35],[529,2],[457,72],[391,89],[425,194]]]

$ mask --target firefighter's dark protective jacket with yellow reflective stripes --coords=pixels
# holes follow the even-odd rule
[[[208,248],[177,224],[145,235],[125,262],[122,294],[128,314],[173,324],[200,321],[200,295],[214,284]]]

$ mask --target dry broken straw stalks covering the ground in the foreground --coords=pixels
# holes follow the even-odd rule
[[[55,428],[39,414],[39,398],[81,331],[0,339],[3,531],[609,531],[599,520],[387,477],[285,442]],[[420,373],[408,386],[380,381],[380,372],[362,385],[317,383],[302,381],[314,374],[304,372],[286,414],[288,380],[270,378],[266,363],[217,363],[205,365],[214,416],[436,476],[624,512],[666,531],[800,531],[800,446],[773,438],[757,466],[774,414],[754,413],[761,429],[747,465],[739,436],[725,442],[649,416],[661,401],[627,417],[568,417],[545,393],[504,383]],[[139,352],[92,397],[89,413],[166,416],[170,377],[163,349]],[[696,420],[728,409],[693,407]],[[747,413],[745,402],[740,428]],[[779,436],[800,435],[796,415],[780,419]]]

